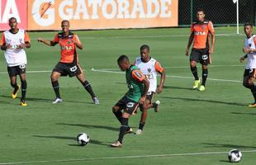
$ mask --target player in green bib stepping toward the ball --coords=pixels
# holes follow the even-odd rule
[[[126,55],[121,55],[117,59],[117,64],[122,71],[126,71],[126,83],[129,91],[112,107],[112,111],[116,115],[117,120],[121,122],[119,138],[116,142],[111,144],[112,147],[122,146],[122,140],[126,131],[130,130],[128,119],[130,115],[135,113],[139,104],[145,103],[146,94],[149,90],[149,81],[145,78],[145,75],[140,72],[139,68],[130,64]],[[123,113],[121,112],[122,110],[124,110]]]

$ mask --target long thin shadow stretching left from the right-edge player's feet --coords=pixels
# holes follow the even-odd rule
[[[183,101],[211,102],[211,103],[225,104],[230,106],[246,106],[246,104],[241,104],[237,102],[213,101],[213,100],[197,99],[197,98],[185,98],[185,97],[162,97],[162,98],[168,98],[173,100],[183,100]]]

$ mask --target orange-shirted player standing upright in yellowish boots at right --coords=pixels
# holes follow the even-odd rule
[[[205,12],[202,9],[197,10],[197,21],[192,23],[191,34],[187,43],[186,55],[193,42],[192,51],[190,54],[190,68],[195,78],[193,89],[199,91],[206,90],[206,78],[208,76],[208,64],[211,64],[211,54],[214,51],[215,31],[211,21],[205,19]],[[211,35],[211,46],[210,42]],[[202,75],[201,86],[200,79],[197,75],[197,63],[201,63]]]

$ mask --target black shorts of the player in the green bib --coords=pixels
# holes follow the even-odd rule
[[[115,106],[119,106],[126,113],[132,115],[137,110],[138,105],[138,102],[130,100],[127,97],[122,97],[121,100],[118,101]]]

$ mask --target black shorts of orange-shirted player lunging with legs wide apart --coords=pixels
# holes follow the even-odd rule
[[[53,72],[60,73],[61,76],[73,77],[83,73],[79,64],[69,64],[69,63],[61,63],[56,64]]]

